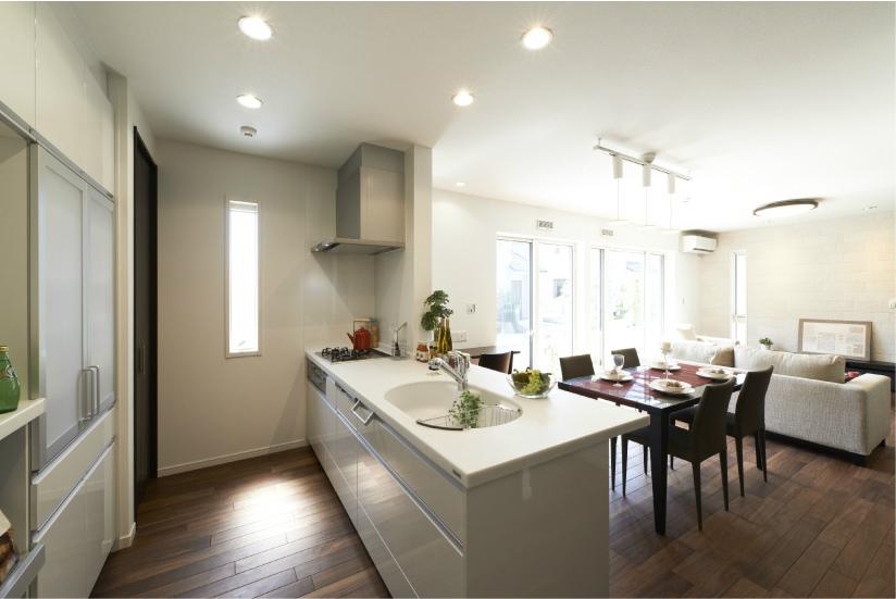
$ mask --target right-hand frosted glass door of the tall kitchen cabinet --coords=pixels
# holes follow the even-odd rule
[[[88,188],[86,271],[88,401],[97,415],[115,401],[115,232],[112,202]],[[94,388],[98,385],[98,388]],[[95,395],[96,394],[96,395]]]

